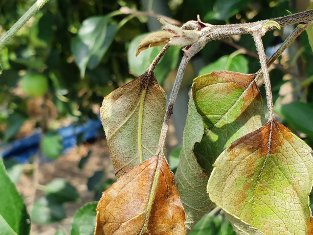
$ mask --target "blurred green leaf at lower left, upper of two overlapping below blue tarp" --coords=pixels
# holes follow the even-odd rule
[[[77,189],[66,179],[56,178],[45,185],[45,193],[58,203],[75,202],[79,198]]]

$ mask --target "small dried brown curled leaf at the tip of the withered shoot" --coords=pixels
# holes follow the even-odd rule
[[[136,56],[149,47],[157,47],[167,44],[173,36],[175,36],[175,34],[168,31],[156,31],[150,33],[147,37],[140,40],[139,46],[136,50]]]

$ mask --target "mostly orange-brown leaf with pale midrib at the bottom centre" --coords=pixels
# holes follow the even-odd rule
[[[103,192],[94,235],[184,235],[185,213],[163,155],[135,166]]]

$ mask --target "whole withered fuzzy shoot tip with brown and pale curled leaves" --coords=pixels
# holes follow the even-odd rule
[[[161,46],[169,43],[173,46],[185,47],[192,45],[199,41],[201,35],[197,30],[184,30],[178,26],[172,25],[164,21],[162,18],[158,18],[164,31],[157,31],[150,33],[147,37],[142,39],[136,50],[136,56],[149,47]]]

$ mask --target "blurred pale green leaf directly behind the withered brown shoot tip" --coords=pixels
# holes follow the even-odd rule
[[[135,56],[136,49],[139,46],[139,41],[145,38],[149,33],[141,34],[133,39],[128,48],[128,64],[130,73],[135,76],[143,74],[151,62],[156,58],[158,52],[163,48],[150,47],[146,50],[141,51],[138,56]],[[162,84],[163,80],[167,77],[171,70],[176,69],[178,59],[179,59],[179,47],[170,47],[165,55],[161,58],[154,71],[157,81]]]

